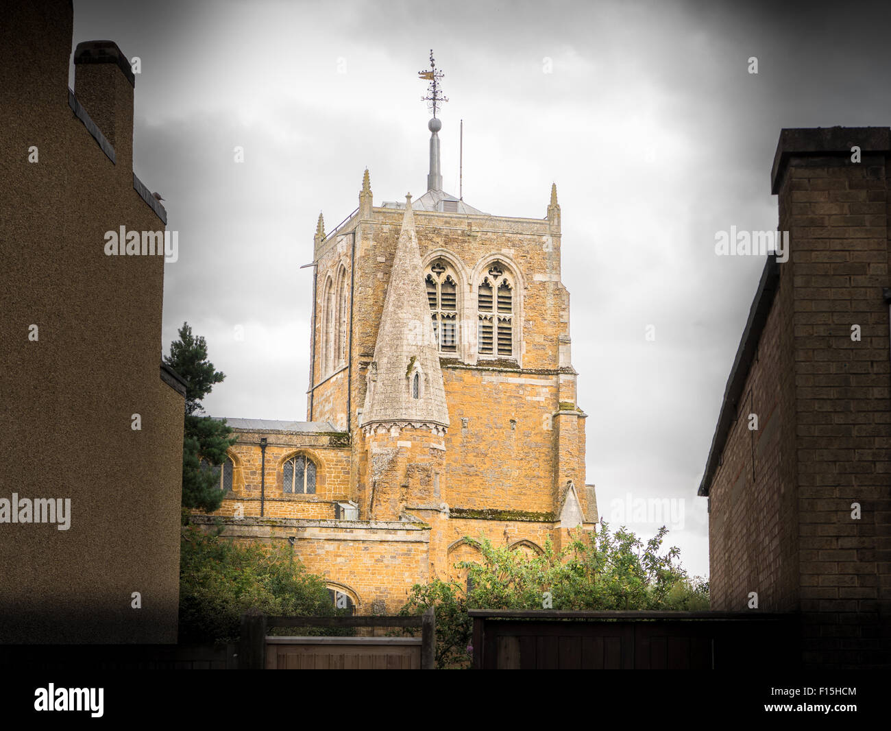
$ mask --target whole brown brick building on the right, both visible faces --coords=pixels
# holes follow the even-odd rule
[[[749,433],[740,403],[710,481],[713,608],[760,587],[761,609],[800,611],[806,667],[891,662],[888,133],[783,130],[773,192],[791,258],[743,374],[772,415]]]

